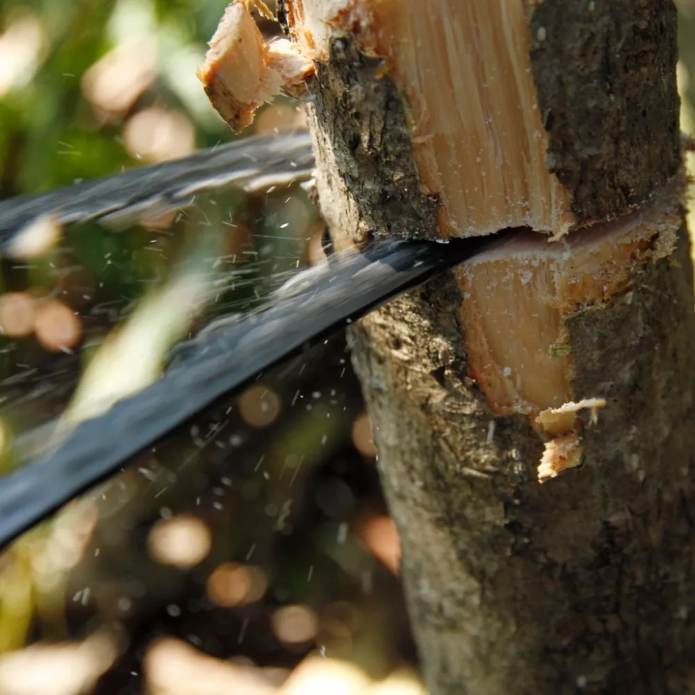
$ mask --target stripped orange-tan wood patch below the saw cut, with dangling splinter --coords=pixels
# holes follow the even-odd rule
[[[629,293],[639,268],[671,255],[684,186],[676,177],[641,210],[562,243],[521,231],[457,270],[468,368],[491,411],[530,416],[546,439],[539,482],[581,464],[577,414],[589,409],[596,420],[596,408],[606,405],[603,398],[573,402],[581,355],[573,354],[567,322]]]

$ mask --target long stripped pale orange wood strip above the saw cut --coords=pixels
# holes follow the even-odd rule
[[[531,74],[521,2],[303,0],[291,35],[322,62],[345,33],[384,60],[403,90],[420,190],[436,197],[442,236],[505,227],[565,231],[569,195],[545,164],[548,138]],[[364,90],[364,86],[362,85]],[[435,106],[436,105],[436,106]]]

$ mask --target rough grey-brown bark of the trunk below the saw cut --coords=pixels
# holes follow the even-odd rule
[[[352,329],[432,691],[694,692],[691,273],[649,263],[571,318],[578,398],[609,404],[546,485],[528,419],[466,376],[456,302],[437,279]]]

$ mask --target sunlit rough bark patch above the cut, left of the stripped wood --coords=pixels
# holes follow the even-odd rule
[[[353,241],[370,233],[437,239],[436,201],[420,192],[402,95],[382,71],[383,60],[357,49],[336,33],[328,63],[316,63],[311,111],[320,195],[347,197],[357,214],[341,220]],[[328,178],[327,178],[328,177]],[[323,193],[322,193],[323,191]]]

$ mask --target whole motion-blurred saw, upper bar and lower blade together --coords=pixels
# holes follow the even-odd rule
[[[256,137],[179,161],[8,199],[0,202],[0,248],[11,255],[23,230],[47,216],[60,224],[112,215],[137,218],[144,211],[192,204],[204,190],[307,179],[312,167],[306,133]],[[361,252],[335,253],[281,286],[265,311],[223,319],[179,344],[158,382],[86,420],[57,448],[3,477],[0,546],[270,366],[470,258],[485,244],[475,239],[448,244],[377,240]]]

